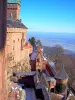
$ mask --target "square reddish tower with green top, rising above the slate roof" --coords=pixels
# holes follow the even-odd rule
[[[20,14],[20,0],[7,0],[7,19],[17,20]]]

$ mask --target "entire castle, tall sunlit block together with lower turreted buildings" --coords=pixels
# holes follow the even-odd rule
[[[8,0],[6,45],[5,51],[0,52],[0,92],[3,92],[1,87],[4,86],[4,88],[6,88],[5,84],[7,86],[9,85],[10,76],[13,72],[28,72],[32,70],[38,71],[38,76],[40,77],[37,78],[37,75],[35,76],[35,87],[36,89],[39,89],[44,85],[43,94],[45,95],[45,100],[48,100],[46,98],[48,96],[50,96],[50,98],[57,97],[56,100],[58,100],[59,97],[61,100],[62,97],[67,94],[68,75],[64,66],[62,66],[59,72],[54,75],[51,66],[48,65],[47,59],[44,58],[40,49],[37,50],[37,57],[35,57],[35,59],[32,57],[32,66],[30,68],[29,54],[32,53],[33,48],[26,42],[26,32],[28,28],[19,18],[20,5],[20,0]],[[5,57],[5,62],[3,61],[3,57]],[[3,68],[6,66],[6,69],[2,69],[1,66],[3,66]],[[5,70],[5,72],[3,70]],[[1,80],[3,84],[1,83]],[[53,100],[55,100],[55,98]],[[1,98],[1,100],[7,100],[7,98]]]

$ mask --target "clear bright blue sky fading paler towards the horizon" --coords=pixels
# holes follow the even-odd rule
[[[29,31],[75,33],[75,0],[21,0]]]

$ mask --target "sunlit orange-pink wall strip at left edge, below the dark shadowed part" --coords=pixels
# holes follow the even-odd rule
[[[5,51],[0,51],[0,100],[7,100]]]

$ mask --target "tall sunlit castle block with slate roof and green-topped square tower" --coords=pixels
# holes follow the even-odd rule
[[[7,4],[7,38],[6,55],[7,65],[10,71],[25,71],[29,66],[29,54],[32,52],[32,46],[26,42],[27,27],[19,18],[20,0],[8,0]]]

